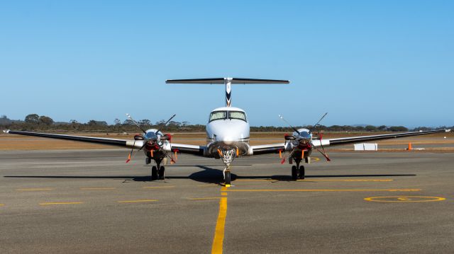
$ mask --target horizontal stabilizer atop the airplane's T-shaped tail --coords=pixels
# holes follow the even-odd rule
[[[243,79],[243,78],[214,78],[214,79],[168,79],[165,83],[207,83],[207,84],[224,84],[224,83],[290,83],[288,80],[279,79]]]

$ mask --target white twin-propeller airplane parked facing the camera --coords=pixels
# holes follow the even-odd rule
[[[175,144],[172,143],[170,134],[162,134],[160,129],[144,130],[128,115],[135,125],[137,125],[143,134],[136,134],[133,140],[124,139],[106,139],[98,137],[81,137],[64,134],[48,134],[38,132],[18,132],[6,130],[4,132],[10,134],[21,134],[36,137],[48,137],[55,139],[67,139],[79,142],[92,142],[98,144],[107,144],[113,146],[122,146],[131,148],[131,153],[128,156],[128,161],[131,160],[131,154],[134,149],[143,150],[145,153],[145,163],[151,163],[153,159],[156,166],[152,167],[151,179],[164,179],[165,167],[161,166],[162,161],[175,161],[177,153],[193,154],[195,156],[204,156],[209,158],[220,158],[226,168],[223,170],[224,183],[226,186],[231,185],[231,163],[235,158],[244,156],[254,156],[258,154],[279,154],[289,152],[288,162],[292,164],[292,179],[304,178],[304,166],[301,166],[301,161],[305,163],[311,162],[311,153],[313,149],[318,150],[330,161],[328,155],[324,151],[324,146],[334,146],[343,144],[353,144],[358,142],[367,142],[379,139],[391,139],[397,137],[409,137],[423,134],[431,134],[438,132],[450,132],[450,129],[439,129],[426,132],[404,132],[398,134],[380,134],[372,136],[360,137],[345,137],[338,139],[322,139],[321,133],[319,137],[314,137],[312,129],[294,129],[292,135],[285,135],[284,142],[279,144],[264,144],[258,146],[250,146],[250,125],[248,117],[244,110],[231,107],[231,85],[232,84],[250,84],[250,83],[289,83],[287,80],[273,79],[240,79],[240,78],[216,78],[216,79],[174,79],[167,80],[165,83],[201,83],[201,84],[223,84],[226,86],[226,107],[215,108],[209,115],[209,121],[206,124],[206,146],[196,146],[191,144]],[[323,117],[325,117],[323,115]],[[166,124],[175,117],[173,115],[167,120]],[[282,120],[284,118],[279,115]],[[323,119],[319,120],[319,122]],[[285,121],[285,120],[284,120]],[[287,122],[287,121],[286,121]],[[317,122],[314,127],[316,127]],[[175,157],[174,157],[175,154]],[[284,157],[282,163],[287,161]],[[293,165],[293,163],[295,165]]]

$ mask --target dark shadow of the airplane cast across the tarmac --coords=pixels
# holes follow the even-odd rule
[[[241,166],[241,165],[237,165]],[[202,171],[192,173],[189,176],[167,176],[166,179],[191,179],[201,183],[215,183],[221,184],[223,173],[221,168],[211,168],[212,166],[195,165],[201,168]],[[217,166],[216,166],[217,167]],[[363,178],[363,177],[398,177],[398,176],[416,176],[415,174],[360,174],[360,175],[306,175],[306,178]],[[137,176],[137,175],[4,175],[4,178],[56,178],[56,179],[116,179],[124,180],[124,182],[149,182],[151,181],[150,175]],[[241,176],[231,174],[231,180],[237,179],[267,179],[274,181],[292,181],[290,175],[248,175]],[[156,180],[154,182],[162,182]]]

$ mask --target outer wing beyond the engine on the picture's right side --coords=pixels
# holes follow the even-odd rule
[[[440,132],[450,132],[450,129],[438,129],[438,130],[431,130],[426,132],[403,132],[403,133],[392,133],[392,134],[381,134],[381,135],[371,135],[371,136],[359,136],[359,137],[341,137],[337,139],[322,139],[323,146],[337,146],[343,144],[354,144],[359,142],[369,142],[369,141],[376,141],[381,139],[394,139],[398,137],[411,137],[411,136],[419,136],[425,134],[432,134],[432,133],[440,133]],[[314,142],[315,146],[320,146],[320,140],[315,139]]]

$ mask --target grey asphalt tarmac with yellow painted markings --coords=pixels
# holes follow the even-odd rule
[[[127,150],[1,151],[0,253],[453,253],[454,154],[179,155],[150,181]]]

